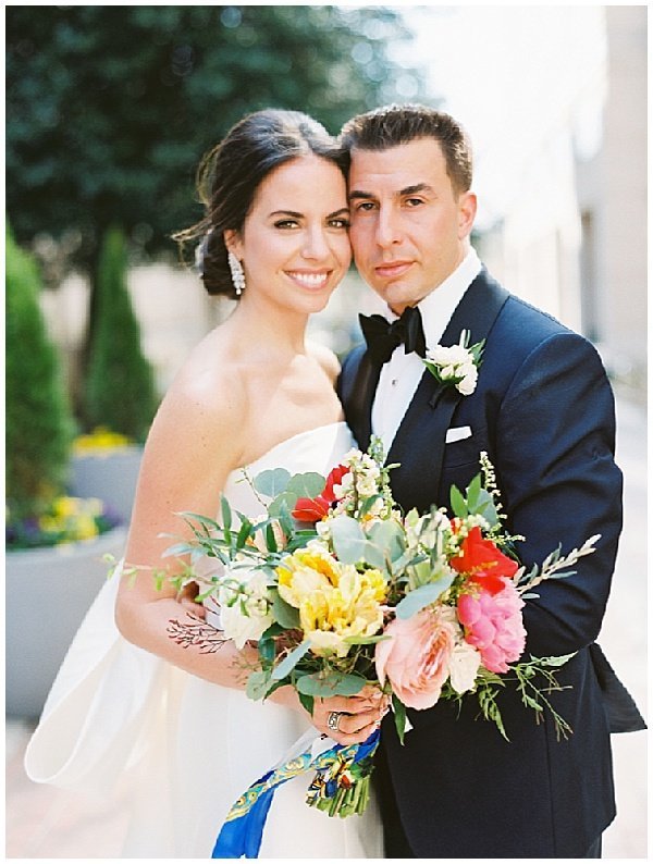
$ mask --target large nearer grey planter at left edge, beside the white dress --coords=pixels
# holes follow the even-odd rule
[[[8,552],[7,714],[34,718],[77,628],[107,578],[107,553],[120,558],[126,529],[91,541]]]

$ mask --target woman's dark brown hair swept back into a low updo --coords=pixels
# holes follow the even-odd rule
[[[236,298],[224,232],[242,231],[257,189],[271,171],[315,153],[345,173],[345,157],[326,129],[299,111],[266,109],[248,114],[201,160],[197,192],[206,217],[174,239],[199,243],[196,263],[209,294]]]

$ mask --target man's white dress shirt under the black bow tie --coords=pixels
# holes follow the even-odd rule
[[[470,247],[451,276],[417,305],[422,317],[427,348],[434,348],[438,345],[456,306],[480,271],[479,257]],[[389,321],[398,318],[387,306],[384,307],[382,314]],[[390,360],[381,369],[372,405],[372,433],[381,437],[386,454],[423,372],[422,358],[415,351],[406,354],[403,345],[395,348]]]

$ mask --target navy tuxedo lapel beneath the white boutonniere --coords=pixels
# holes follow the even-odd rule
[[[470,345],[486,338],[508,296],[483,268],[456,307],[441,344],[457,344],[463,330],[469,331]],[[401,466],[391,479],[395,499],[404,509],[417,507],[423,511],[435,503],[446,432],[463,398],[472,397],[461,396],[455,386],[440,384],[424,370],[387,454],[389,464]]]

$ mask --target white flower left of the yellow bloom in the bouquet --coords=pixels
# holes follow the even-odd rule
[[[274,620],[264,573],[260,570],[231,570],[218,592],[220,620],[224,635],[241,650],[248,640],[257,641]],[[236,584],[235,580],[239,581]]]

